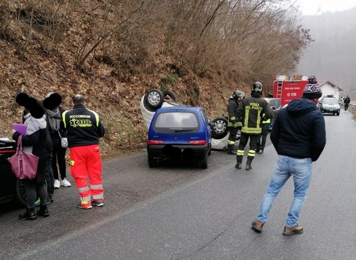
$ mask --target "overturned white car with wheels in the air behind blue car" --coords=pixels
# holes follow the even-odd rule
[[[175,94],[169,90],[161,92],[161,90],[158,89],[151,89],[147,94],[142,96],[140,109],[147,129],[149,129],[149,124],[151,124],[152,117],[158,108],[167,106],[184,106],[177,103],[175,100]],[[208,120],[212,124],[212,149],[227,150],[228,138],[230,136],[230,132],[228,131],[228,120],[225,117],[216,117],[214,120],[208,117]]]

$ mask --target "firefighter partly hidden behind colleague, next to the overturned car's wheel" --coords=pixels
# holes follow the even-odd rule
[[[244,99],[245,94],[240,90],[235,90],[235,92],[230,96],[228,103],[228,129],[230,131],[230,136],[228,139],[228,154],[235,154],[235,142],[237,137],[237,131],[242,127],[242,122],[237,118],[237,108],[239,103]]]

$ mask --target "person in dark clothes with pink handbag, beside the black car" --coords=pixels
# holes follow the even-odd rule
[[[27,126],[27,130],[26,135],[22,136],[23,150],[39,158],[36,178],[23,180],[26,188],[27,208],[19,217],[23,220],[36,219],[36,215],[48,217],[50,213],[47,210],[47,188],[45,187],[47,153],[46,147],[43,145],[47,139],[45,108],[40,101],[23,92],[17,94],[15,100],[20,106],[29,110],[29,113],[24,115],[24,124]],[[14,140],[17,141],[20,136],[21,133],[13,130]],[[40,210],[35,213],[36,189],[41,202]]]

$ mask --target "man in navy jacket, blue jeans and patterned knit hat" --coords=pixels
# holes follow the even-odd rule
[[[262,198],[258,217],[251,224],[252,229],[258,233],[267,222],[274,199],[290,177],[294,181],[294,199],[283,235],[303,233],[297,221],[311,181],[311,165],[320,157],[326,143],[324,117],[316,106],[321,96],[316,77],[312,75],[302,98],[290,101],[287,108],[279,111],[274,121],[271,140],[279,157],[267,192]]]

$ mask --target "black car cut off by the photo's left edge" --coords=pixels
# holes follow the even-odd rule
[[[8,138],[0,138],[0,203],[15,201],[26,205],[26,189],[22,180],[17,180],[8,158],[15,154],[16,142]]]

